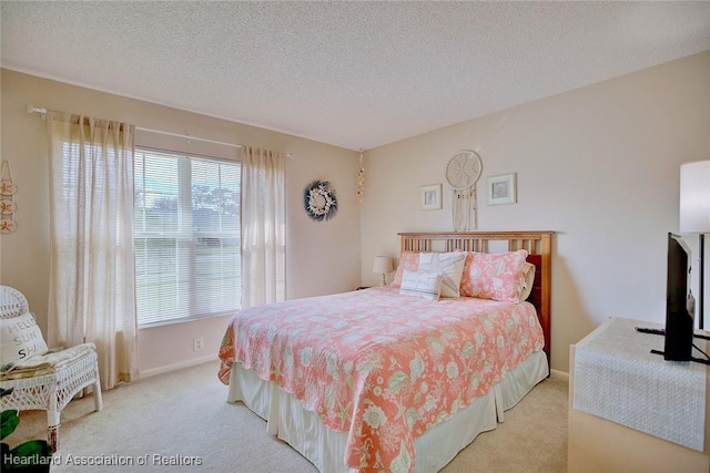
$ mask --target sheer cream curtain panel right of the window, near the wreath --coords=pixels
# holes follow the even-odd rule
[[[285,299],[284,158],[242,148],[242,308]]]

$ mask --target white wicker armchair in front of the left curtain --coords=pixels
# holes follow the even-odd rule
[[[0,319],[11,319],[28,311],[27,298],[22,292],[8,286],[0,286]],[[2,376],[4,373],[0,373],[0,388],[12,390],[10,394],[0,398],[0,411],[45,410],[48,440],[53,451],[59,449],[61,410],[74,395],[82,389],[93,385],[94,408],[97,411],[103,408],[99,362],[93,343],[72,347],[58,354],[60,358],[63,356],[61,363],[57,363],[55,367],[50,366],[34,374],[19,374],[18,378],[8,379]]]

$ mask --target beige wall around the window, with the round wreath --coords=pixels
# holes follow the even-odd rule
[[[357,153],[8,70],[2,70],[1,86],[1,157],[10,163],[18,184],[18,229],[0,236],[0,282],[28,297],[43,329],[49,287],[47,132],[40,116],[27,112],[28,105],[291,153],[293,158],[286,161],[287,297],[339,292],[359,285]],[[136,140],[148,136],[139,133]],[[191,141],[190,146],[201,144]],[[329,222],[311,220],[302,206],[304,187],[316,178],[331,181],[336,189],[338,213]],[[141,371],[151,374],[215,358],[225,326],[226,319],[212,319],[141,330]],[[193,353],[194,337],[205,338],[204,351]]]

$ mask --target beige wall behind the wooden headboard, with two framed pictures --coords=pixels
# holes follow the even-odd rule
[[[558,232],[554,370],[568,372],[569,345],[608,317],[665,321],[679,166],[710,160],[710,51],[368,152],[364,282],[374,255],[397,256],[397,232],[453,229],[444,172],[464,148],[484,162],[479,229]],[[518,203],[487,206],[486,177],[513,172]],[[444,208],[419,210],[420,186],[437,183]]]

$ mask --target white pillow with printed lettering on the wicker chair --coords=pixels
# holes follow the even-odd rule
[[[0,319],[0,364],[45,353],[48,350],[34,315],[30,312]]]

